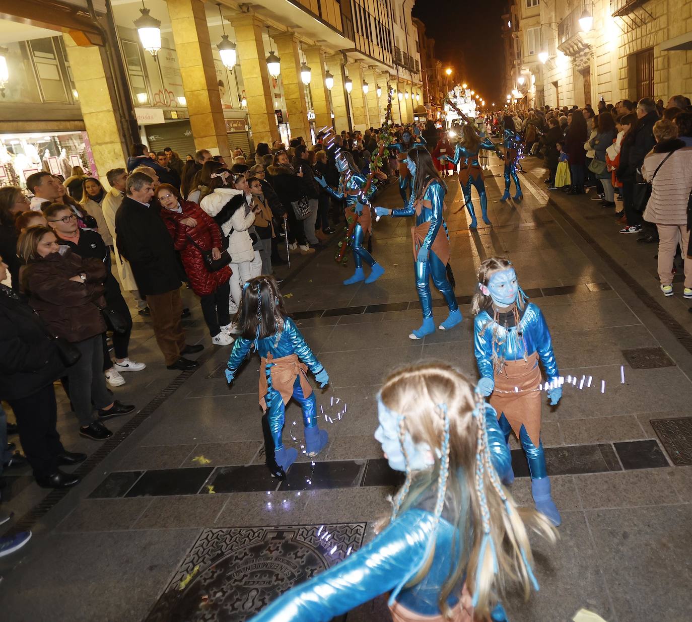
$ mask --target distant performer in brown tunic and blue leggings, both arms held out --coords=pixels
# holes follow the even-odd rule
[[[483,216],[483,222],[486,225],[492,224],[488,218],[488,196],[485,193],[485,183],[483,181],[483,170],[479,162],[479,154],[481,149],[497,153],[503,157],[498,147],[495,146],[490,138],[481,138],[471,124],[466,123],[462,128],[462,140],[459,140],[454,150],[454,157],[441,156],[440,161],[448,160],[456,166],[464,158],[462,167],[459,169],[459,184],[464,191],[464,200],[466,201],[466,209],[471,216],[471,224],[468,226],[475,229],[477,221],[475,210],[473,209],[473,201],[471,200],[471,185],[475,186],[480,199],[480,210]]]

